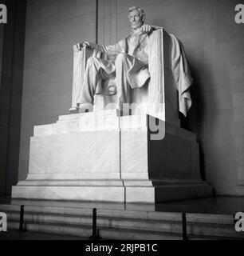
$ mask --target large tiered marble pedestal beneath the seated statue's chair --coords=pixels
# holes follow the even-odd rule
[[[115,110],[35,126],[26,181],[12,198],[155,203],[212,194],[199,176],[195,134]]]

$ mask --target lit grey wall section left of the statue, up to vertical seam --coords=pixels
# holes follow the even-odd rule
[[[96,37],[96,0],[29,0],[19,179],[26,179],[33,126],[69,114],[73,45]]]

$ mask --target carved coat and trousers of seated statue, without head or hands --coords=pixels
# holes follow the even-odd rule
[[[113,46],[91,44],[91,48],[104,56],[88,60],[79,103],[93,104],[94,94],[117,94],[117,109],[122,110],[123,103],[130,102],[130,88],[140,88],[150,78],[148,34],[129,35]]]

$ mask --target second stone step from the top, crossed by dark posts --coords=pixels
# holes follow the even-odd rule
[[[17,214],[10,214],[10,221],[18,222],[19,216]],[[92,229],[92,218],[79,218],[79,217],[64,217],[64,216],[49,216],[40,214],[26,214],[26,223],[46,223],[49,225],[58,226],[87,226]],[[136,220],[130,218],[97,218],[97,228],[104,229],[112,227],[112,229],[120,230],[137,230],[144,232],[159,232],[163,234],[182,234],[181,222],[168,222],[168,221],[148,221]],[[219,238],[238,238],[238,233],[234,230],[234,225],[213,225],[213,224],[195,224],[187,222],[187,234],[190,235],[203,235],[214,236]]]

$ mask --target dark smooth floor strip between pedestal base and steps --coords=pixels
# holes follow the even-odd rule
[[[75,208],[97,208],[112,210],[148,210],[165,212],[186,212],[198,214],[235,214],[244,211],[244,197],[218,196],[212,198],[198,198],[175,202],[151,204],[121,204],[99,202],[64,202],[64,201],[37,201],[37,200],[11,200],[0,198],[0,204],[32,205],[32,206],[61,206]]]

